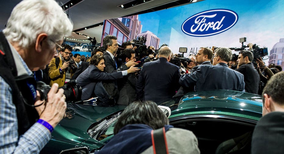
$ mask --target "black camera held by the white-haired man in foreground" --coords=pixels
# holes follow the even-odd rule
[[[37,90],[41,95],[41,100],[47,99],[47,93],[49,92],[50,88],[51,87],[49,85],[46,85],[42,81],[37,82]],[[82,88],[75,82],[75,80],[71,80],[59,88],[64,90],[63,94],[66,96],[67,103],[74,103],[75,101],[81,100]]]

